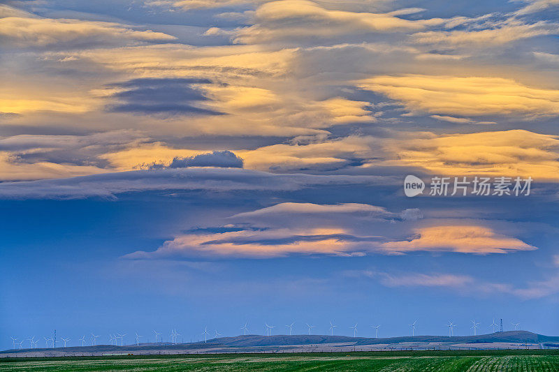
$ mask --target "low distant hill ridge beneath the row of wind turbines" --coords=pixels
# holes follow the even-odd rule
[[[548,345],[559,344],[559,336],[544,336],[527,331],[507,331],[495,332],[493,334],[480,334],[478,336],[400,336],[387,338],[368,338],[368,337],[350,337],[350,336],[325,336],[325,335],[306,335],[296,334],[277,335],[277,336],[261,336],[256,334],[247,334],[235,337],[212,338],[207,343],[140,343],[140,345],[95,345],[95,346],[71,346],[68,348],[42,348],[42,349],[22,349],[22,350],[4,350],[2,353],[13,352],[96,352],[96,353],[112,353],[112,352],[134,352],[134,351],[150,351],[158,350],[184,350],[196,352],[203,349],[221,349],[224,352],[228,348],[246,349],[246,350],[265,350],[274,346],[303,346],[303,345],[321,345],[335,344],[344,345],[375,345],[375,344],[401,344],[401,343],[546,343]]]

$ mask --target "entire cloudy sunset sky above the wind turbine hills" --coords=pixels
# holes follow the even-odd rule
[[[558,19],[557,0],[2,1],[0,349],[245,322],[558,335]]]

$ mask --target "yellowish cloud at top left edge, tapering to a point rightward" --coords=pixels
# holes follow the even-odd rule
[[[122,44],[123,41],[175,40],[174,36],[161,32],[136,31],[114,22],[24,17],[21,12],[6,14],[6,7],[3,10],[0,40],[13,47],[80,47]]]

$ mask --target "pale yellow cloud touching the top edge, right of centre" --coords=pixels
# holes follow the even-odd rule
[[[416,10],[412,11],[415,13]],[[347,34],[386,33],[420,30],[442,24],[439,18],[405,20],[392,13],[356,13],[328,10],[307,0],[279,0],[263,3],[254,12],[254,25],[236,31],[236,43],[263,43],[269,40],[333,38]]]

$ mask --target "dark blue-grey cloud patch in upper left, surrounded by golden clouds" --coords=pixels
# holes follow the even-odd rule
[[[203,107],[209,98],[196,87],[199,84],[211,84],[207,79],[134,79],[108,85],[122,88],[112,95],[117,101],[108,105],[110,112],[132,112],[137,114],[154,114],[163,116],[177,115],[220,115]]]

